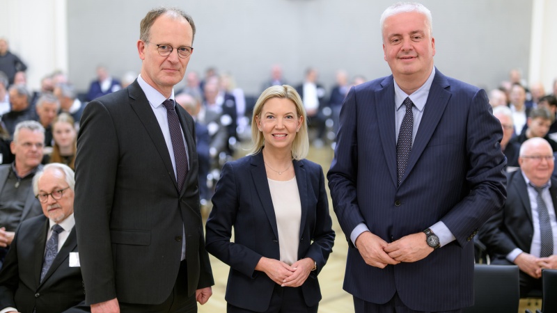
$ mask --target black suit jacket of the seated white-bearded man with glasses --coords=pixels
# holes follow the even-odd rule
[[[45,278],[40,271],[45,255],[49,220],[36,216],[25,220],[0,272],[0,310],[15,307],[19,312],[91,312],[85,303],[81,268],[70,267],[70,252],[77,253],[75,227],[56,255]]]

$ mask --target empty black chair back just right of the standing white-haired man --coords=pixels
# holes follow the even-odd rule
[[[518,266],[474,264],[474,305],[465,313],[518,312],[519,299]]]

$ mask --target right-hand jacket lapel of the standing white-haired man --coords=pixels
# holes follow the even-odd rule
[[[427,143],[430,142],[431,136],[441,116],[443,115],[448,100],[452,95],[446,88],[450,85],[444,74],[441,74],[439,70],[435,69],[435,77],[431,84],[430,93],[427,95],[427,102],[425,102],[425,107],[423,109],[422,120],[420,126],[418,127],[418,132],[416,133],[416,138],[414,138],[414,144],[412,145],[412,150],[410,152],[410,159],[408,160],[408,166],[406,168],[406,175],[402,177],[402,184],[406,177],[408,177],[412,168],[416,165],[418,159],[420,159],[423,150]]]

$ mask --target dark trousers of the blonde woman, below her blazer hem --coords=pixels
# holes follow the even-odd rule
[[[308,307],[301,288],[281,287],[275,284],[269,309],[265,313],[317,313],[317,307]],[[235,307],[228,303],[226,307],[228,313],[255,313],[256,311]]]

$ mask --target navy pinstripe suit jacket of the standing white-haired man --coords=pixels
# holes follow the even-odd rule
[[[334,210],[350,246],[344,289],[371,303],[386,303],[398,292],[418,311],[472,305],[469,241],[505,201],[501,138],[485,91],[436,70],[397,186],[393,76],[353,87],[340,112],[328,173]],[[359,223],[392,242],[439,221],[456,240],[418,262],[368,266],[350,241]]]

